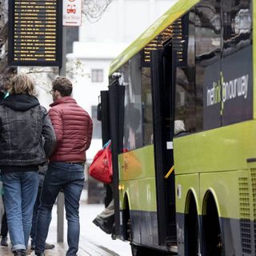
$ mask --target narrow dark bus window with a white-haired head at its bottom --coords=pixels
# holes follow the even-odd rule
[[[174,54],[176,59],[175,84],[175,127],[174,134],[182,131],[196,130],[196,88],[194,83],[194,12],[186,14],[178,20],[182,31],[174,31]],[[178,26],[178,27],[181,27]],[[174,24],[174,30],[177,24]],[[182,34],[186,44],[178,43],[179,34]],[[178,36],[176,38],[176,36]],[[178,46],[178,48],[177,48]],[[181,58],[177,57],[182,53]],[[178,58],[178,59],[177,59]],[[180,61],[181,60],[181,61]]]

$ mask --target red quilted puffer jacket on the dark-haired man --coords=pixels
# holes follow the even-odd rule
[[[57,137],[50,161],[85,162],[93,132],[90,115],[70,96],[60,98],[50,106],[49,115]]]

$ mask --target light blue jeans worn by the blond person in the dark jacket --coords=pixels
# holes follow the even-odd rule
[[[1,176],[12,250],[26,250],[38,194],[38,171],[12,172]]]

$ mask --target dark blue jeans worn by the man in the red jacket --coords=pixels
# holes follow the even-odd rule
[[[79,201],[84,185],[84,166],[66,162],[51,162],[42,186],[41,203],[38,208],[38,223],[35,240],[35,252],[45,250],[46,238],[50,226],[51,210],[60,191],[64,192],[69,249],[66,256],[75,256],[78,252],[80,235]]]

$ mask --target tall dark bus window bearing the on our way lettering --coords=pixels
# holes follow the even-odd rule
[[[223,0],[223,126],[253,118],[252,3]]]

